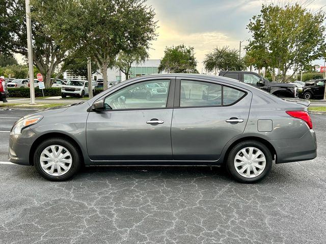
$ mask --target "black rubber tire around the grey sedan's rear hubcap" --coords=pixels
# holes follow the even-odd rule
[[[240,175],[237,172],[235,165],[234,165],[234,160],[235,160],[237,153],[241,149],[244,149],[247,147],[255,147],[255,148],[261,150],[261,152],[264,154],[265,160],[266,160],[265,168],[262,170],[262,172],[259,175],[252,177],[252,178],[247,178],[247,177],[243,177],[242,175]],[[269,149],[261,142],[254,141],[254,140],[242,141],[242,142],[236,144],[231,149],[228,159],[226,161],[227,171],[232,175],[232,177],[234,179],[236,179],[237,181],[242,182],[242,183],[254,183],[254,182],[258,182],[258,181],[262,180],[264,177],[266,177],[268,175],[272,165],[273,165],[273,158],[272,158],[272,155],[271,155]],[[241,166],[239,166],[239,167],[241,167]]]

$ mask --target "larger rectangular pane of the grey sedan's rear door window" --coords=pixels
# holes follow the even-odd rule
[[[221,106],[222,85],[181,80],[180,107]]]

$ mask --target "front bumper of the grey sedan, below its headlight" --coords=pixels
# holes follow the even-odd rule
[[[31,128],[25,128],[20,135],[9,136],[9,161],[14,164],[32,165],[30,151],[37,135]]]

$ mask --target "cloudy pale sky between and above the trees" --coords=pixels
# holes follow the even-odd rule
[[[205,54],[216,46],[239,50],[251,35],[246,29],[252,16],[259,14],[262,4],[298,3],[312,11],[326,11],[326,0],[148,0],[158,21],[157,40],[149,51],[151,59],[161,59],[166,46],[184,44],[195,48],[197,70],[202,73]],[[244,46],[241,53],[244,55]],[[241,55],[241,56],[243,56]],[[314,64],[323,65],[322,60]],[[204,72],[204,70],[203,70]]]

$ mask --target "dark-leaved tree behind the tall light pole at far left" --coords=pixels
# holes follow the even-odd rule
[[[41,5],[41,0],[35,0]],[[32,6],[31,13],[46,12],[47,8],[40,5]],[[2,16],[0,18],[0,51],[4,53],[20,53],[25,57],[28,56],[27,34],[26,34],[26,15],[25,1],[23,0],[4,0],[0,3]],[[3,11],[5,9],[6,11]],[[54,15],[52,15],[54,16]],[[49,18],[51,19],[51,18]],[[6,26],[4,26],[6,25]],[[43,75],[46,87],[51,85],[51,75],[56,71],[58,66],[64,61],[67,49],[64,49],[60,42],[55,42],[50,35],[43,32],[44,24],[41,24],[32,18],[32,39],[33,39],[33,61],[34,65]],[[59,72],[57,75],[59,76]]]

